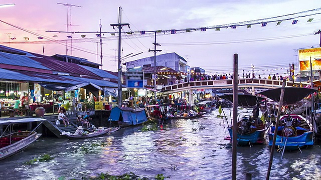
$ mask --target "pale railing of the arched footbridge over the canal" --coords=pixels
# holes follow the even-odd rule
[[[286,81],[285,86],[292,87],[295,83],[291,81]],[[257,86],[270,86],[270,87],[281,87],[283,84],[282,80],[272,80],[272,79],[260,79],[260,78],[240,78],[238,79],[239,85],[257,85]],[[210,87],[222,87],[222,86],[231,86],[233,87],[233,79],[217,79],[217,80],[196,80],[190,82],[183,82],[177,84],[170,84],[162,87],[162,91],[170,91],[177,89],[187,89],[189,87],[197,87],[200,88],[204,86]]]

